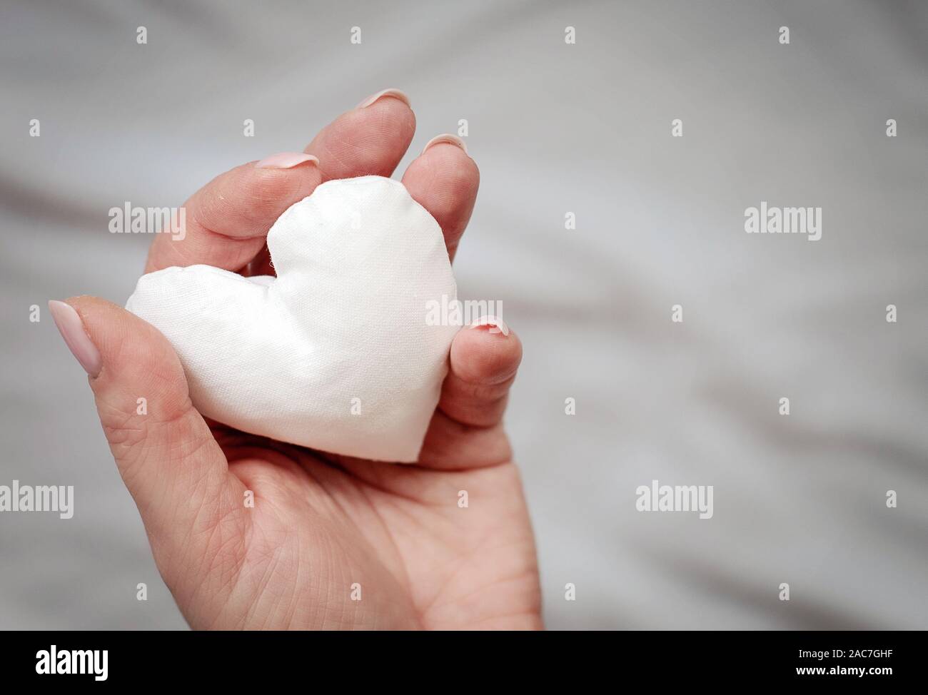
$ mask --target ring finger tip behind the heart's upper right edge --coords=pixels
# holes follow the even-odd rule
[[[454,260],[480,187],[480,171],[463,140],[455,135],[432,138],[406,169],[403,183],[442,227],[448,257]]]

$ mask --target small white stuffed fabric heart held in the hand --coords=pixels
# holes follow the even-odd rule
[[[126,308],[174,345],[204,416],[415,461],[458,330],[426,320],[429,302],[457,301],[432,215],[391,179],[330,181],[277,219],[267,248],[277,277],[165,268],[139,279]]]

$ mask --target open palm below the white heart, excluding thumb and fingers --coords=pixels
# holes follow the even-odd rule
[[[216,435],[254,507],[241,512],[238,502],[217,515],[226,528],[210,532],[211,584],[227,591],[189,606],[178,596],[194,627],[540,624],[535,547],[512,463],[427,470]]]

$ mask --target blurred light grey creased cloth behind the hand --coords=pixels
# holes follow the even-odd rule
[[[419,120],[401,169],[469,125],[459,296],[502,301],[525,344],[509,431],[548,625],[928,627],[928,5],[0,13],[0,484],[76,497],[70,521],[0,514],[0,627],[184,626],[84,374],[30,305],[124,302],[150,239],[110,234],[110,207],[180,205],[391,86]],[[745,234],[762,200],[820,206],[822,238]],[[713,485],[714,517],[636,511],[652,480]]]

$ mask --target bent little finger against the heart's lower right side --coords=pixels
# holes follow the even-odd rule
[[[490,320],[494,324],[461,329],[451,343],[450,369],[420,465],[464,469],[511,459],[502,419],[522,342],[502,321]]]

